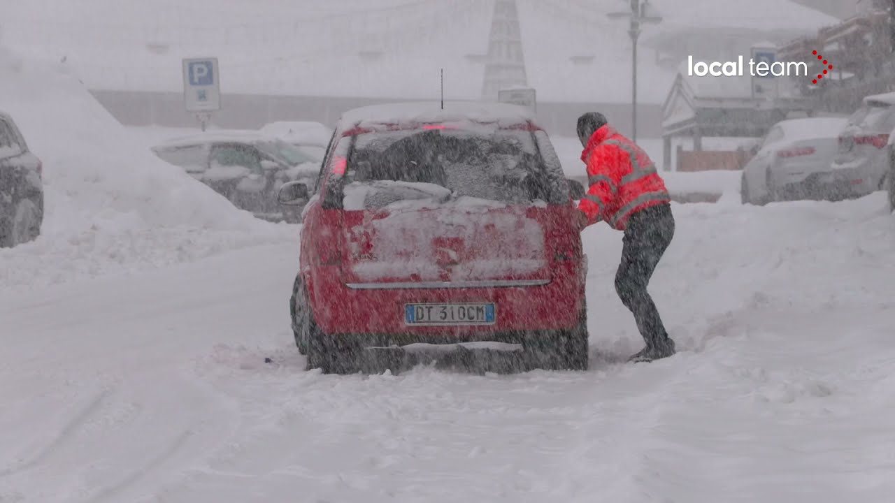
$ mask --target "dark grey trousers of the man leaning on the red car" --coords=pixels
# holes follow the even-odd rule
[[[669,338],[646,287],[649,286],[652,271],[671,243],[674,227],[669,204],[652,206],[628,219],[622,240],[616,292],[625,307],[634,314],[637,329],[650,347],[664,344]]]

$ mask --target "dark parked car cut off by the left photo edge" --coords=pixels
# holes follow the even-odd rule
[[[0,248],[28,243],[44,221],[43,164],[13,118],[0,112]]]

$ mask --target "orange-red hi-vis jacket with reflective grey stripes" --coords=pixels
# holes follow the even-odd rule
[[[605,220],[625,230],[627,219],[637,211],[671,200],[644,149],[609,124],[592,134],[581,160],[587,165],[590,188],[578,209],[590,225]]]

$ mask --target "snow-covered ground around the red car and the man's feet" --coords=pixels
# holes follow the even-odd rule
[[[580,373],[304,371],[297,236],[0,289],[0,501],[891,501],[884,208],[676,205],[652,292],[682,351],[641,365],[588,229]]]

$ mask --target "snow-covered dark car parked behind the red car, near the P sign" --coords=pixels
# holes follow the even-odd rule
[[[259,132],[208,132],[166,141],[153,152],[224,195],[240,209],[296,223],[301,207],[284,211],[277,191],[286,182],[316,183],[322,159]]]

